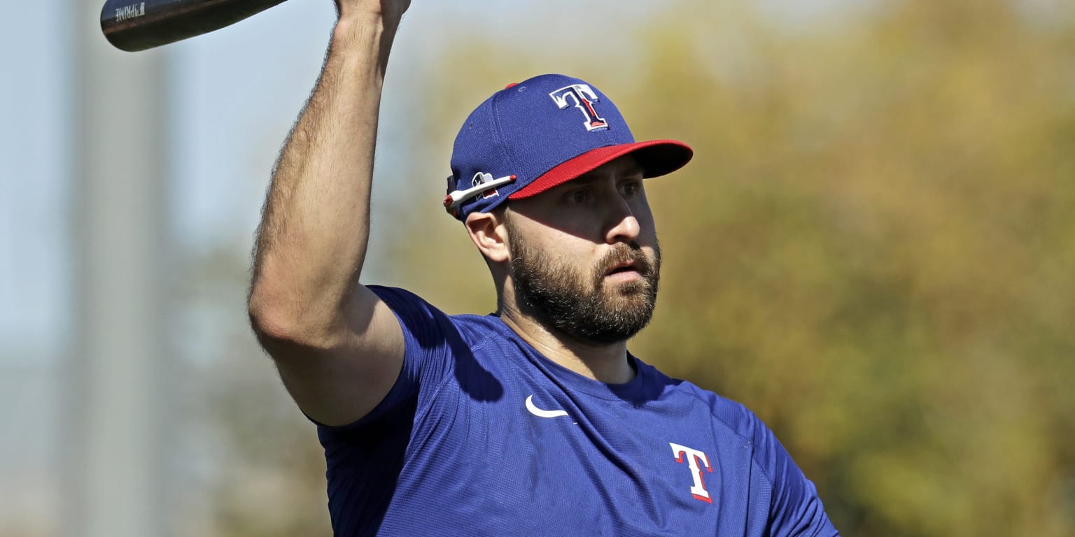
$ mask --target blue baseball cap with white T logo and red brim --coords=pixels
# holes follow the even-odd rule
[[[657,177],[683,168],[693,150],[675,140],[635,142],[616,105],[592,85],[535,76],[497,91],[467,118],[452,150],[444,207],[464,220],[629,154],[644,177]]]

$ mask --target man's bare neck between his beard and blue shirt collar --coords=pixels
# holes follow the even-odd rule
[[[611,384],[630,382],[634,378],[634,368],[627,360],[627,342],[594,344],[580,340],[513,307],[501,307],[500,318],[546,358],[584,377]]]

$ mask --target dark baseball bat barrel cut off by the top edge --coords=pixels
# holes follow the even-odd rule
[[[127,52],[209,33],[286,0],[106,0],[101,31]]]

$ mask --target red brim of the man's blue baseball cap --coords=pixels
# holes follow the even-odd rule
[[[631,144],[598,147],[586,151],[545,172],[529,185],[516,190],[507,198],[517,200],[538,195],[553,187],[562,185],[587,174],[625,155],[634,155],[643,169],[644,177],[659,177],[672,173],[690,162],[694,150],[689,145],[675,140],[650,140]]]

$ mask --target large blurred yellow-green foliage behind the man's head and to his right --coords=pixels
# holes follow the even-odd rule
[[[1075,17],[1017,5],[684,0],[599,57],[463,34],[415,172],[446,169],[475,87],[559,60],[697,151],[647,185],[665,264],[635,353],[758,412],[845,535],[1072,535]],[[492,310],[461,226],[411,214],[392,282]]]

